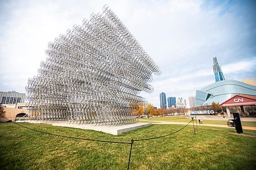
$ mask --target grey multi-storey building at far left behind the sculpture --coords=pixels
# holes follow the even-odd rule
[[[17,104],[25,101],[25,93],[18,93],[16,91],[0,91],[1,104]]]

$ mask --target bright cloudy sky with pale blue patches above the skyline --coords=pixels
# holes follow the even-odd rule
[[[155,107],[166,98],[195,96],[214,83],[212,58],[224,77],[256,80],[256,1],[4,1],[0,0],[0,91],[26,93],[45,61],[48,43],[108,5],[162,70]]]

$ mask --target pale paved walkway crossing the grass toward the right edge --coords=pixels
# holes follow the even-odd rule
[[[167,122],[167,121],[161,121],[161,120],[142,120],[142,119],[140,119],[140,121],[152,122],[152,124],[155,124],[155,125],[186,125],[187,124],[187,123],[184,123],[184,122]],[[193,125],[193,123],[190,123],[189,125]],[[194,122],[194,125],[196,125],[195,122]],[[215,124],[203,124],[203,125],[197,124],[197,126],[234,128],[234,127],[228,127],[227,125],[215,125]],[[256,130],[256,127],[243,126],[242,128],[247,129],[247,130]]]

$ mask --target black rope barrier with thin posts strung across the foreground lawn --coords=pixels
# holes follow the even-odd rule
[[[3,116],[3,115],[2,115]],[[5,116],[3,116],[4,118],[6,118]],[[9,120],[8,118],[6,118],[7,120]],[[180,119],[180,118],[179,118]],[[39,130],[36,130],[36,129],[32,129],[32,128],[28,128],[26,126],[23,126],[23,125],[19,125],[15,122],[12,122],[13,124],[15,125],[18,125],[18,126],[21,126],[23,128],[26,128],[26,129],[30,129],[32,131],[36,131],[36,132],[39,132],[39,133],[44,133],[44,134],[48,134],[48,135],[53,135],[53,136],[59,136],[59,137],[65,137],[65,138],[71,138],[71,139],[79,139],[79,140],[88,140],[88,141],[96,141],[96,142],[108,142],[108,143],[121,143],[121,144],[131,144],[131,148],[130,148],[130,154],[129,154],[129,161],[128,161],[128,165],[127,165],[127,170],[129,170],[130,168],[130,162],[131,162],[131,155],[132,155],[132,149],[133,149],[133,143],[134,141],[142,141],[142,140],[152,140],[152,139],[157,139],[157,138],[162,138],[162,137],[165,137],[165,136],[169,136],[169,135],[172,135],[172,134],[175,134],[179,131],[181,131],[182,129],[184,129],[185,127],[187,127],[191,122],[193,122],[193,127],[194,127],[194,133],[196,134],[195,132],[195,126],[194,126],[194,117],[191,118],[190,122],[188,124],[186,124],[186,126],[182,127],[181,129],[175,131],[175,132],[172,132],[172,133],[169,133],[167,135],[163,135],[163,136],[158,136],[158,137],[153,137],[153,138],[145,138],[145,139],[132,139],[131,142],[119,142],[119,141],[108,141],[108,140],[96,140],[96,139],[86,139],[86,138],[79,138],[79,137],[72,137],[72,136],[64,136],[64,135],[58,135],[58,134],[53,134],[53,133],[49,133],[49,132],[44,132],[44,131],[39,131]]]

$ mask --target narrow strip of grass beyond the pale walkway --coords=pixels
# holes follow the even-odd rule
[[[180,119],[177,119],[177,118],[180,118]],[[140,119],[141,120],[161,120],[166,122],[188,122],[189,121],[187,118],[179,117],[179,116],[151,117],[151,118],[140,118]],[[203,123],[215,124],[215,125],[227,125],[227,120],[204,120],[203,119]],[[242,123],[242,126],[256,127],[256,122],[241,122],[241,123]]]

